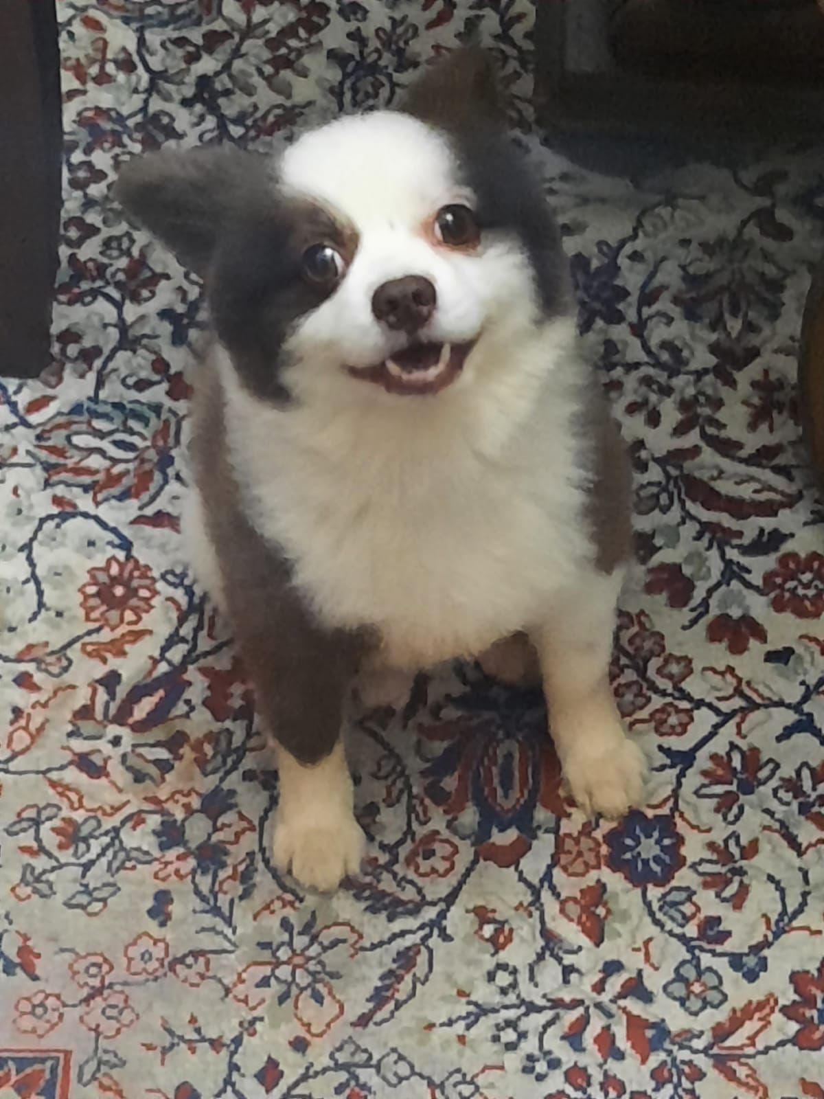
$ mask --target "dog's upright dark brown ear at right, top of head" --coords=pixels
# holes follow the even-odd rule
[[[503,125],[506,114],[490,54],[460,46],[428,65],[407,89],[400,109],[446,129],[490,122]]]

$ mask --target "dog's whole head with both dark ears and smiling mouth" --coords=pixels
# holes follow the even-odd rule
[[[125,165],[120,200],[203,276],[253,393],[478,385],[568,312],[557,230],[497,119],[490,71],[461,51],[403,112],[342,118],[280,158],[204,148]]]

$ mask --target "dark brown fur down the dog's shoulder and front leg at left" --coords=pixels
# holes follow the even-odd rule
[[[266,729],[300,763],[316,763],[338,739],[369,639],[325,630],[292,586],[288,560],[249,523],[227,460],[223,404],[216,371],[204,363],[191,454],[226,609]]]

